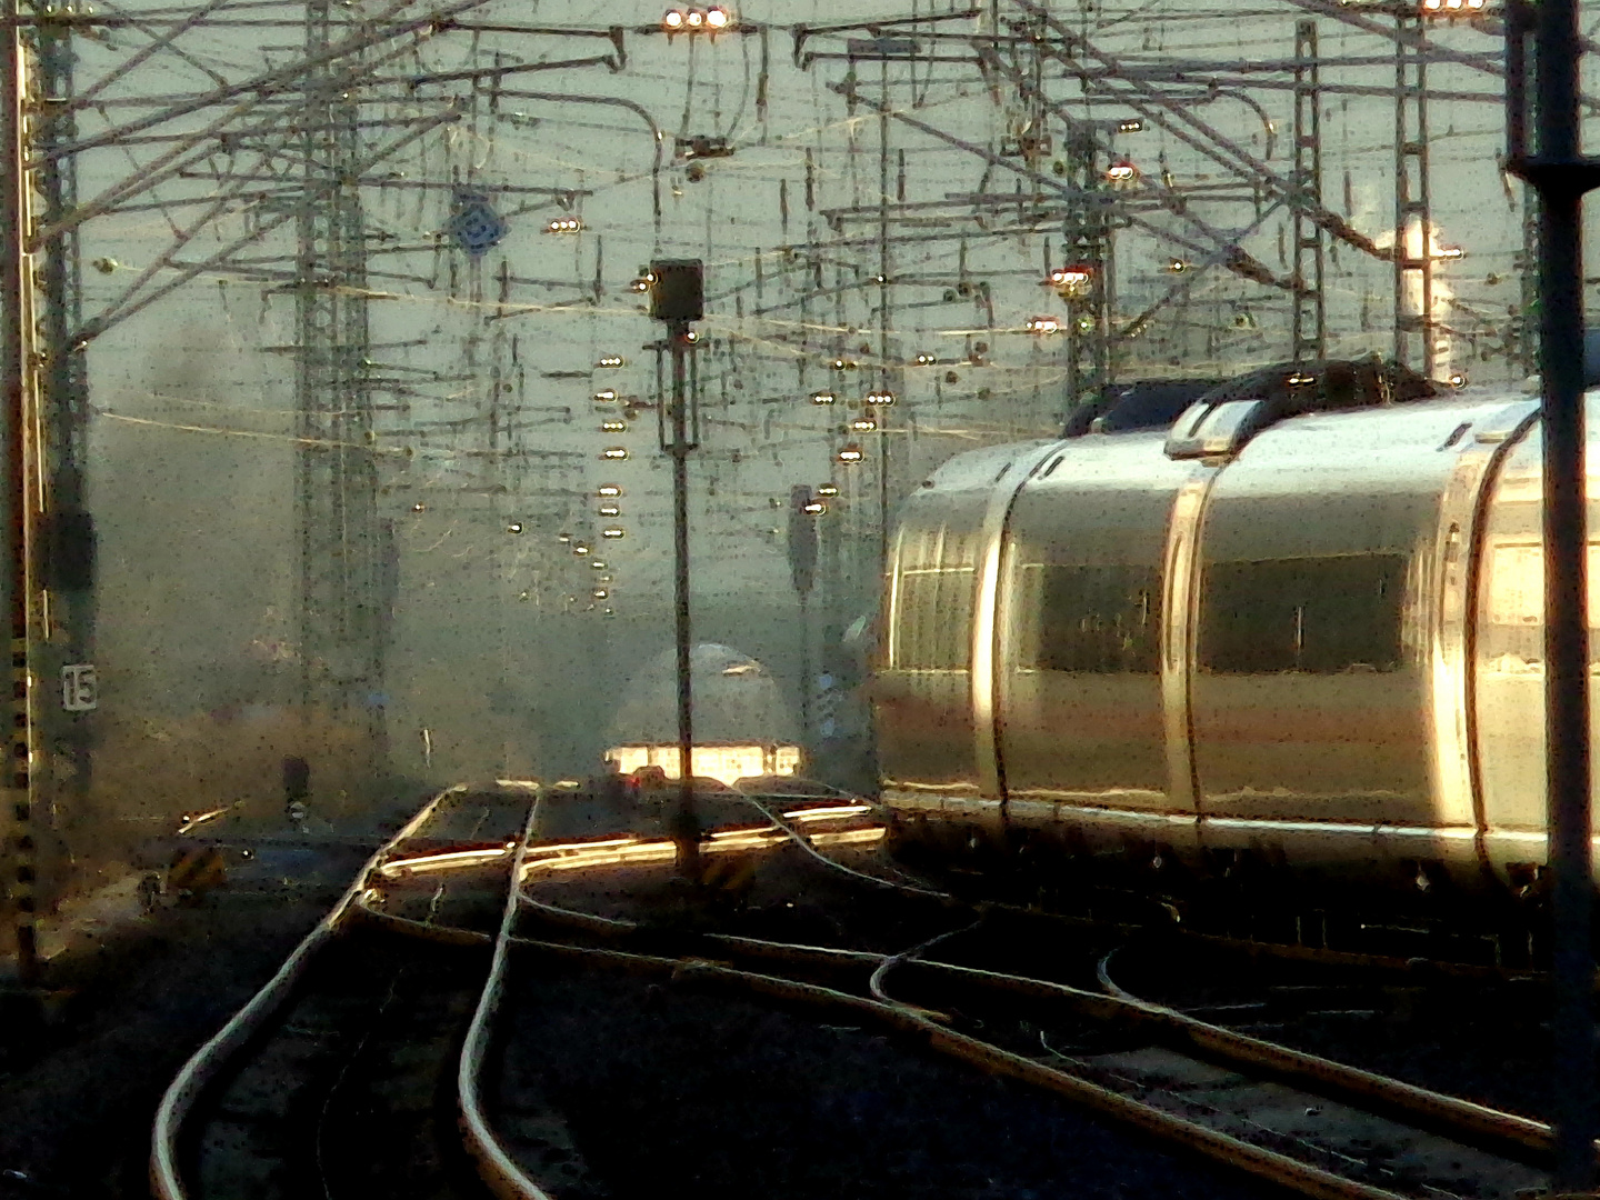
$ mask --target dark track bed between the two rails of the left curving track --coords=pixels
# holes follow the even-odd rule
[[[203,1200],[485,1195],[461,1149],[454,1064],[486,954],[357,928],[221,1080],[184,1147]]]

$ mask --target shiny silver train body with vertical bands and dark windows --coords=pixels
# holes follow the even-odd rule
[[[1262,405],[968,453],[907,501],[872,683],[904,832],[1539,875],[1536,398]]]

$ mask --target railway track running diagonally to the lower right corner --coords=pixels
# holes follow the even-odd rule
[[[568,934],[530,949],[848,1011],[1309,1195],[1510,1200],[1546,1184],[1539,1122],[1118,995],[1109,978],[1091,992],[966,965],[958,942],[979,930],[902,954],[710,933],[698,954],[653,955],[614,890],[606,901],[610,915],[530,904]]]

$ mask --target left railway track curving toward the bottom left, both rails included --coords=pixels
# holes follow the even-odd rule
[[[483,1120],[461,1094],[475,1083],[462,1046],[490,970],[485,931],[504,906],[507,859],[531,805],[531,792],[451,789],[368,861],[168,1088],[152,1133],[158,1200],[490,1195],[470,1136],[472,1117]],[[416,856],[437,869],[390,888],[435,936],[352,922],[386,867]],[[557,1126],[518,1117],[525,1157],[560,1149]]]

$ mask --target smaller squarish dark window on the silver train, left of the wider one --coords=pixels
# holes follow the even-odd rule
[[[1037,570],[1037,670],[1155,674],[1162,592],[1154,568],[1046,563]]]

